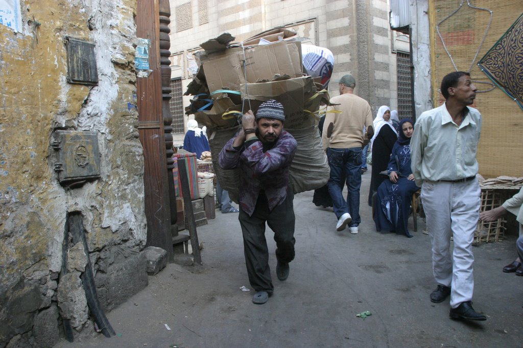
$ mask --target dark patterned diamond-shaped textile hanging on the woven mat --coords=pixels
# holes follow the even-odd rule
[[[523,109],[523,14],[477,65]]]

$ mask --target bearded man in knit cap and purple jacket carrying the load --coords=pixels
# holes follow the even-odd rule
[[[294,259],[294,193],[289,168],[296,140],[283,130],[285,114],[276,100],[262,103],[256,117],[249,110],[242,127],[220,152],[223,169],[240,168],[240,214],[247,274],[256,290],[253,303],[264,304],[274,292],[265,223],[274,231],[276,275],[286,280]]]

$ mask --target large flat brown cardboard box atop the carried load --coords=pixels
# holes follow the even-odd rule
[[[237,91],[241,83],[272,80],[275,75],[303,75],[300,42],[280,41],[233,50],[202,65],[210,93],[220,89]]]

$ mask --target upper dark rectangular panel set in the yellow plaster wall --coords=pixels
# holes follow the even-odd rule
[[[97,85],[95,44],[65,37],[65,47],[67,50],[67,82]]]

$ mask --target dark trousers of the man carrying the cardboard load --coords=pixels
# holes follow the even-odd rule
[[[243,249],[249,283],[255,291],[266,291],[272,294],[269,268],[269,249],[265,239],[265,222],[274,231],[276,242],[276,259],[280,262],[290,262],[294,259],[294,206],[292,188],[287,190],[286,199],[272,211],[269,211],[267,197],[258,196],[256,208],[251,217],[242,210],[240,205],[240,225],[243,234]]]

